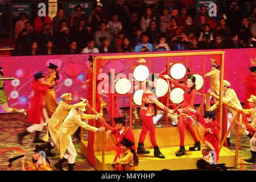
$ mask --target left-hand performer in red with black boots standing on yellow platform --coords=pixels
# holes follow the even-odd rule
[[[161,102],[159,102],[154,94],[154,88],[156,84],[156,80],[158,77],[151,73],[148,76],[148,80],[146,81],[146,85],[144,86],[144,92],[142,95],[142,107],[141,107],[141,118],[142,118],[142,130],[141,135],[139,135],[139,144],[137,149],[137,154],[149,154],[150,151],[146,151],[144,146],[144,140],[146,138],[147,132],[150,134],[150,142],[154,147],[154,156],[158,158],[164,159],[165,156],[160,152],[158,144],[156,144],[155,139],[155,126],[153,123],[153,116],[156,114],[156,106],[159,106],[164,111],[168,111],[168,113],[174,113],[173,110],[168,109],[168,107],[164,106]]]

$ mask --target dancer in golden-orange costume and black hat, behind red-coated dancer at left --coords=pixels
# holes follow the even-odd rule
[[[44,84],[50,84],[52,85],[48,92],[46,93],[46,96],[44,96],[44,102],[46,111],[48,114],[48,117],[51,118],[54,111],[57,109],[57,106],[59,105],[59,102],[56,100],[56,94],[54,90],[54,86],[56,84],[56,80],[59,80],[59,72],[57,71],[57,65],[49,63],[48,72],[50,73],[48,76],[46,76],[46,82],[43,82]]]

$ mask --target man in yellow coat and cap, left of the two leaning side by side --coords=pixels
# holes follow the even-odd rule
[[[51,150],[57,143],[57,133],[60,129],[61,124],[63,123],[64,119],[67,117],[69,111],[75,107],[75,105],[71,105],[72,97],[71,93],[65,93],[62,96],[62,101],[60,105],[57,107],[55,112],[53,113],[51,119],[47,123],[47,133],[43,137],[44,141],[48,141],[49,136],[51,136],[52,140],[50,142],[42,144],[40,147],[46,150],[47,156],[53,156],[54,154],[51,153]],[[86,100],[79,102],[78,104],[84,103]]]

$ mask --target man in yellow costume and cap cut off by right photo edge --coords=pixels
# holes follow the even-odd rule
[[[250,109],[242,109],[243,113],[250,114],[251,118],[251,123],[250,126],[256,130],[256,96],[251,95],[249,99],[249,106],[251,107]],[[245,126],[242,126],[245,127]],[[249,131],[247,131],[248,137],[250,137],[250,147],[251,147],[251,158],[250,159],[245,159],[246,162],[248,163],[253,163],[256,164],[256,133],[254,132],[253,135],[249,134]]]

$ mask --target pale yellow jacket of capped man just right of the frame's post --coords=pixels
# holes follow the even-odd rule
[[[236,107],[238,109],[242,109],[241,103],[238,100],[236,92],[234,92],[234,89],[228,89],[225,95],[223,96],[223,102],[228,103],[232,105],[233,107]],[[210,107],[210,111],[216,109],[219,105],[219,102],[216,102],[212,107]],[[227,107],[228,110],[232,113],[233,117],[236,114],[235,111],[229,107]]]

